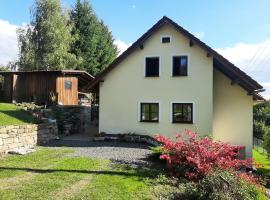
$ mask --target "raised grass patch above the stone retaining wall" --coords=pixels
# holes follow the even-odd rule
[[[14,104],[0,103],[0,126],[36,123],[31,114]]]

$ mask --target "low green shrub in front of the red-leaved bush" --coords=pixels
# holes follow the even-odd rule
[[[174,199],[197,200],[254,200],[264,195],[253,184],[240,179],[230,171],[216,170],[198,183],[187,183],[185,191]],[[266,198],[265,198],[266,199]]]

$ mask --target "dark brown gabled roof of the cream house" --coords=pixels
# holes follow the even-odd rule
[[[124,53],[117,57],[103,72],[101,72],[88,87],[93,89],[97,84],[102,81],[103,77],[113,70],[120,62],[122,62],[126,57],[128,57],[134,50],[141,47],[143,43],[151,37],[151,35],[156,32],[163,25],[170,25],[175,28],[179,33],[184,35],[190,40],[190,45],[198,45],[207,52],[208,56],[213,56],[214,67],[228,76],[232,82],[239,84],[244,88],[248,94],[253,95],[255,100],[264,100],[262,96],[258,93],[263,90],[263,87],[245,72],[241,71],[238,67],[228,61],[226,58],[221,56],[214,49],[206,45],[204,42],[196,38],[190,32],[185,30],[183,27],[179,26],[170,18],[164,16],[160,19],[154,26],[152,26],[146,33],[144,33],[136,42],[134,42]]]

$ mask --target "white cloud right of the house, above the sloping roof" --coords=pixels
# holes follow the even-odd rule
[[[266,89],[262,95],[270,98],[270,39],[257,44],[238,43],[216,50],[261,83]]]

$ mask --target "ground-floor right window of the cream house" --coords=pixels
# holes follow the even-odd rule
[[[172,103],[173,123],[193,123],[192,103]]]

